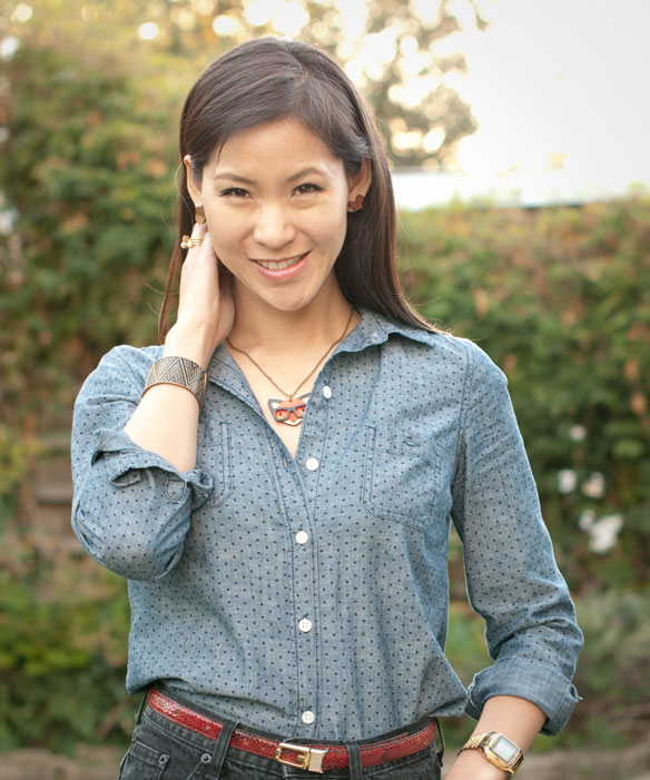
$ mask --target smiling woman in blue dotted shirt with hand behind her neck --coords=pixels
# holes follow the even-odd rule
[[[434,718],[464,711],[449,777],[512,774],[568,720],[581,636],[503,374],[400,290],[371,113],[263,38],[200,76],[180,157],[164,345],[106,355],[73,428],[73,526],[129,579],[148,690],[120,777],[437,778]],[[450,517],[495,661],[469,694]]]

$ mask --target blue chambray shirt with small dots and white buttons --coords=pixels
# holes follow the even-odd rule
[[[197,465],[122,432],[160,347],[116,347],[76,404],[72,524],[128,577],[127,688],[286,738],[365,739],[522,697],[561,729],[582,639],[503,373],[368,310],[322,367],[295,460],[219,346]],[[494,663],[445,658],[450,522]]]

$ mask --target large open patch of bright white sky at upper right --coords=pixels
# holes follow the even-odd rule
[[[482,0],[491,26],[445,46],[480,128],[473,175],[562,169],[600,186],[650,186],[650,0]]]

